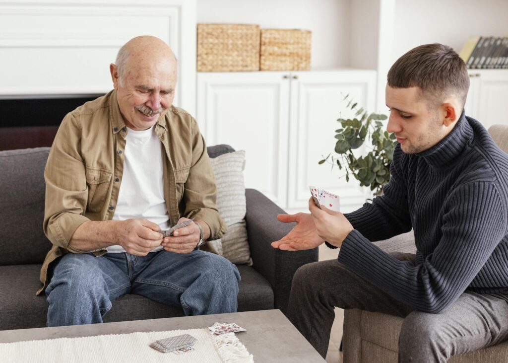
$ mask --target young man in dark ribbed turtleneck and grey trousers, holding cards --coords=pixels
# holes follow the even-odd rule
[[[310,198],[310,214],[278,216],[297,225],[274,248],[341,248],[338,261],[297,271],[288,307],[323,357],[334,307],[404,317],[402,362],[446,362],[508,338],[508,156],[464,115],[468,87],[450,47],[401,56],[386,86],[387,131],[398,145],[384,195],[346,215]],[[411,228],[416,255],[371,243]]]

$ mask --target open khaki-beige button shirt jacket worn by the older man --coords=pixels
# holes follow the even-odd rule
[[[127,132],[114,90],[63,118],[44,171],[44,233],[53,248],[42,265],[43,287],[37,294],[48,284],[51,262],[69,252],[82,253],[69,247],[76,229],[86,221],[112,219]],[[217,211],[215,179],[196,120],[172,106],[155,132],[164,145],[164,195],[171,223],[180,217],[202,220],[210,227],[210,239],[220,238],[227,226]],[[92,252],[99,257],[106,250]]]

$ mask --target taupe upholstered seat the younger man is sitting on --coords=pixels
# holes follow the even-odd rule
[[[508,126],[494,125],[489,128],[489,133],[496,144],[502,150],[508,152]],[[386,252],[416,252],[412,232],[376,244]],[[388,314],[358,309],[344,311],[344,363],[396,363],[399,351],[399,334],[403,320]],[[452,356],[449,362],[508,362],[508,341]]]

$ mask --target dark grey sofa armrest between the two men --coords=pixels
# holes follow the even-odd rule
[[[288,234],[295,224],[277,221],[277,214],[285,212],[261,192],[246,189],[245,198],[252,267],[272,285],[275,309],[285,314],[293,275],[298,267],[317,261],[317,248],[298,252],[274,249],[271,243]]]

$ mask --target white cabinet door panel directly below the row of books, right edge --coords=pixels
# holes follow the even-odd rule
[[[489,128],[508,125],[508,71],[483,70],[478,79],[478,120]]]

